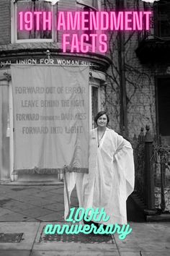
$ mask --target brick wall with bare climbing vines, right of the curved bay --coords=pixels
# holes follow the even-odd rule
[[[110,0],[110,2],[113,2]],[[135,4],[134,4],[135,3]],[[127,1],[127,8],[136,9],[137,1]],[[139,1],[139,8],[143,2]],[[135,55],[138,47],[138,32],[125,33],[125,77],[127,90],[128,133],[130,139],[139,135],[140,128],[149,124],[156,135],[156,74],[161,74],[160,67],[141,65]],[[110,56],[113,61],[107,77],[107,111],[111,118],[110,125],[120,132],[120,75],[118,62],[117,33],[113,33],[110,43]],[[157,71],[156,71],[157,70]]]

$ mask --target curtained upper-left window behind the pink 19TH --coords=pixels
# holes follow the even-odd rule
[[[51,4],[45,1],[17,1],[17,17],[19,12],[51,12]],[[19,31],[19,20],[17,20],[17,40],[23,39],[51,39],[52,30],[42,30],[42,19],[40,18],[40,30],[36,30],[35,19],[30,31]]]

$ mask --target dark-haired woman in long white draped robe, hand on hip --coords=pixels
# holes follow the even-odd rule
[[[89,174],[84,174],[84,208],[104,208],[107,224],[126,224],[126,200],[133,192],[134,163],[130,142],[107,128],[105,111],[97,114],[89,137]]]

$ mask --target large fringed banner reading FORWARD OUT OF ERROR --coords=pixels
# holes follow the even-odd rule
[[[89,67],[12,65],[14,171],[88,171]]]

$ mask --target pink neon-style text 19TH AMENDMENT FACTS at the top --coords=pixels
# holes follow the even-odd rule
[[[63,32],[63,52],[87,52],[84,42],[90,42],[95,52],[107,51],[107,31],[149,30],[152,12],[19,12],[19,31],[58,30]],[[54,25],[54,28],[53,28]],[[80,33],[81,32],[81,33]],[[81,44],[81,49],[78,45]],[[80,51],[79,51],[80,50]]]

